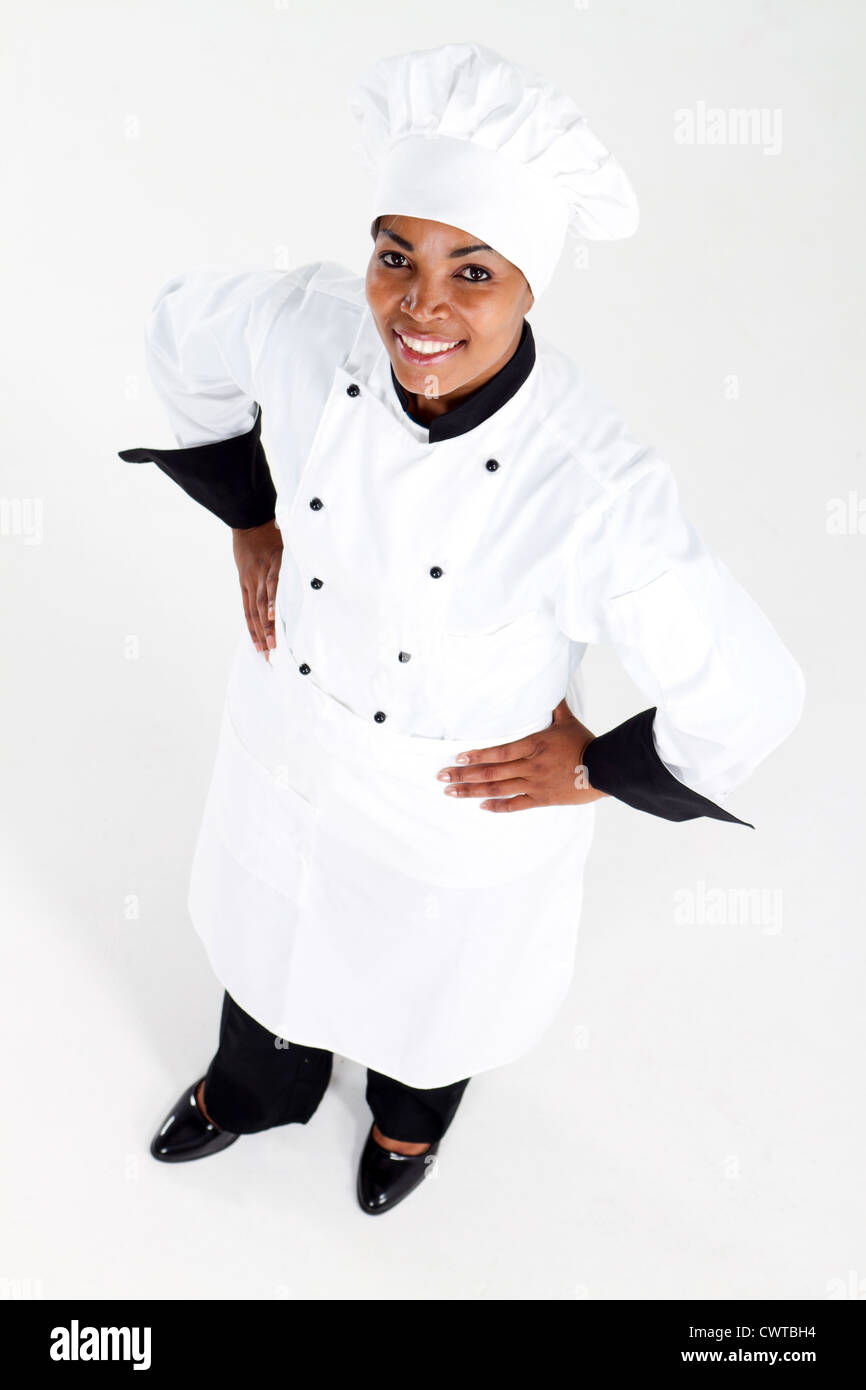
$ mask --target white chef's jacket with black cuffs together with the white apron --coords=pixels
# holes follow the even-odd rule
[[[549,726],[607,642],[652,703],[588,746],[591,784],[749,824],[719,801],[795,726],[798,664],[670,467],[528,322],[430,425],[329,261],[177,275],[147,361],[178,448],[121,457],[284,539],[277,648],[239,619],[192,865],[217,977],[413,1087],[516,1059],[571,983],[596,803],[496,815],[436,771]]]

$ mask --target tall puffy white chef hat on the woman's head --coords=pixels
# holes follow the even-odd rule
[[[566,232],[614,240],[638,200],[574,101],[478,43],[399,53],[353,88],[357,152],[375,172],[370,217],[421,217],[482,238],[535,297]]]

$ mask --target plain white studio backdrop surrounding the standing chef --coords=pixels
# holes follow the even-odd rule
[[[866,1295],[866,535],[827,531],[831,499],[866,489],[862,6],[7,0],[4,18],[0,1291]],[[348,89],[386,53],[466,39],[564,86],[630,172],[638,235],[584,265],[570,245],[531,322],[671,461],[808,709],[728,799],[756,830],[599,805],[567,1005],[470,1083],[438,1177],[370,1222],[353,1062],[307,1126],[177,1168],[147,1154],[217,1041],[185,895],[240,603],[228,530],[117,450],[174,443],[143,361],[160,284],[361,272]],[[780,111],[781,149],[677,143],[698,103]],[[607,653],[585,673],[596,733],[646,703]],[[677,920],[702,884],[771,912]]]

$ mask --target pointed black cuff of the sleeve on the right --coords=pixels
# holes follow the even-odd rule
[[[733,820],[737,826],[755,830],[749,820],[731,816],[730,810],[685,787],[667,770],[652,738],[655,714],[653,705],[587,745],[584,767],[589,784],[635,810],[646,810],[663,820],[710,816],[713,820]]]

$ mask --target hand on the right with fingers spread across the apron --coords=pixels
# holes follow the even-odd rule
[[[512,744],[473,748],[466,766],[443,767],[449,796],[489,796],[481,810],[528,810],[531,806],[575,806],[607,792],[589,785],[584,749],[595,738],[569,709],[553,710],[553,723]]]

